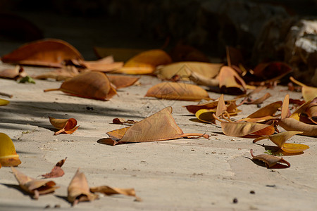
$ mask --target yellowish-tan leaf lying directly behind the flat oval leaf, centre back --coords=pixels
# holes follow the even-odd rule
[[[218,75],[220,67],[223,64],[201,63],[201,62],[179,62],[157,68],[157,75],[163,79],[171,79],[175,75],[180,75],[182,79],[188,79],[190,73],[194,72],[211,79]]]

